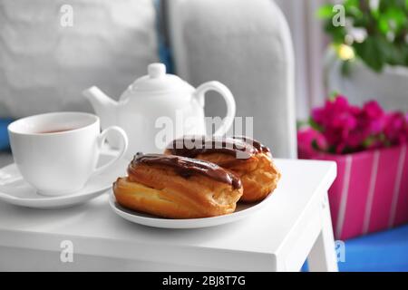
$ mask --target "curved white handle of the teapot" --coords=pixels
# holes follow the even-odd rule
[[[203,108],[205,93],[209,91],[219,92],[219,94],[222,97],[224,97],[224,101],[227,104],[227,115],[222,120],[219,129],[214,133],[214,136],[222,136],[229,130],[234,121],[236,111],[235,99],[232,93],[229,91],[229,89],[221,82],[217,81],[204,82],[203,84],[199,85],[197,90],[194,92],[194,95],[199,101],[199,105]]]

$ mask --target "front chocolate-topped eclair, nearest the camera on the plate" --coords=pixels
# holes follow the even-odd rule
[[[163,218],[209,218],[234,212],[242,196],[236,174],[205,160],[137,154],[113,184],[124,208]]]

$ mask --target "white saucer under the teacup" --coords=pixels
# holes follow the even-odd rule
[[[112,159],[112,154],[102,154],[100,164]],[[128,160],[119,160],[115,169],[103,172],[88,180],[85,187],[70,195],[46,197],[22,179],[15,163],[0,169],[0,200],[26,208],[66,208],[100,196],[112,188],[112,183],[123,176]]]

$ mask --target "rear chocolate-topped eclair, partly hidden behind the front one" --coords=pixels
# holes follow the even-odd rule
[[[246,202],[266,198],[281,176],[267,146],[246,136],[184,136],[170,142],[164,153],[206,160],[236,173],[244,187],[240,200]]]

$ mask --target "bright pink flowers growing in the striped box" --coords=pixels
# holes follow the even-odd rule
[[[387,114],[375,101],[365,102],[360,108],[349,104],[342,95],[314,109],[311,125],[320,135],[314,132],[310,135],[313,138],[298,136],[299,142],[313,141],[320,150],[338,154],[408,142],[408,114]],[[325,142],[321,146],[317,140]]]

